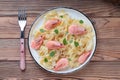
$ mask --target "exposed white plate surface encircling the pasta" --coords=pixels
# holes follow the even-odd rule
[[[95,37],[94,37],[94,46],[93,46],[93,50],[92,50],[92,53],[90,54],[90,56],[88,57],[88,59],[82,64],[80,65],[79,67],[77,68],[73,68],[73,69],[70,69],[70,70],[65,70],[65,71],[53,71],[53,70],[48,70],[46,68],[44,68],[42,65],[40,65],[39,61],[40,61],[40,56],[38,55],[38,53],[36,52],[36,50],[32,49],[30,44],[31,44],[31,41],[33,40],[34,38],[34,35],[33,33],[38,30],[40,28],[40,26],[43,24],[44,22],[44,16],[49,12],[49,11],[52,11],[52,10],[56,10],[56,11],[61,11],[61,10],[64,10],[66,13],[68,13],[72,18],[75,18],[75,19],[78,19],[78,20],[83,20],[85,24],[87,25],[90,25],[94,31],[94,34],[95,34]],[[50,72],[53,72],[53,73],[70,73],[70,72],[73,72],[73,71],[76,71],[78,69],[81,69],[83,68],[89,61],[90,59],[92,58],[93,54],[94,54],[94,51],[95,51],[95,48],[96,48],[96,33],[95,33],[95,28],[91,22],[91,20],[85,16],[85,14],[81,13],[80,11],[77,11],[75,9],[71,9],[71,8],[63,8],[63,7],[60,7],[60,8],[54,8],[54,9],[51,9],[51,10],[48,10],[46,13],[42,14],[41,16],[39,16],[35,22],[33,23],[31,29],[30,29],[30,32],[29,32],[29,37],[28,37],[28,47],[29,47],[29,51],[32,55],[32,57],[34,58],[34,60],[42,67],[44,68],[45,70],[47,71],[50,71]]]

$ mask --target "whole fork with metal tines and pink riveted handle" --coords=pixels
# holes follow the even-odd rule
[[[25,70],[25,45],[24,45],[24,29],[26,26],[27,17],[25,13],[25,9],[18,10],[18,24],[21,29],[20,36],[20,69]]]

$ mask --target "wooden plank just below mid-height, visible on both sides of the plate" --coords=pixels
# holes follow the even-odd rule
[[[120,39],[98,39],[92,61],[120,61]],[[19,39],[0,39],[0,60],[19,60]],[[26,60],[33,60],[26,42]]]

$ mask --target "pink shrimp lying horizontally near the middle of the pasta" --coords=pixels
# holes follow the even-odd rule
[[[48,41],[46,46],[48,49],[60,49],[64,47],[64,45],[58,41]]]

